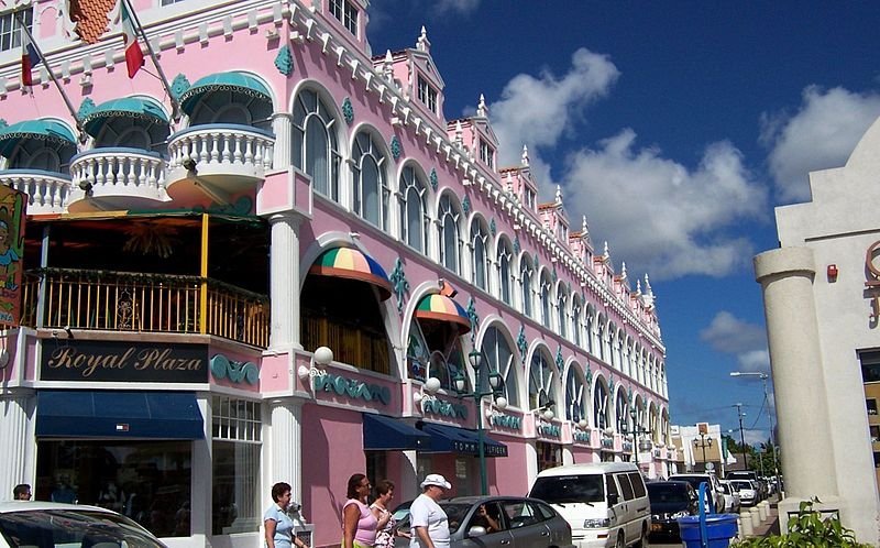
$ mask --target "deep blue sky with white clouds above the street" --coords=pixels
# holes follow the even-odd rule
[[[667,346],[673,424],[766,439],[769,372],[752,257],[773,207],[846,163],[880,116],[880,3],[373,0],[374,54],[422,25],[448,119],[485,96],[501,165],[529,147],[549,201],[586,215],[619,272],[647,273]],[[736,435],[738,437],[738,434]]]

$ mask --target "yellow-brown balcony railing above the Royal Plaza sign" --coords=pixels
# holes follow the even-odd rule
[[[43,306],[38,306],[41,283]],[[22,324],[31,327],[201,333],[268,346],[268,298],[199,276],[34,271],[24,286],[22,316]]]

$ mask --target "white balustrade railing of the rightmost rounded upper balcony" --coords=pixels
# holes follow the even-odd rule
[[[238,124],[194,125],[172,135],[168,168],[182,167],[191,160],[204,168],[213,164],[251,166],[262,176],[272,167],[275,138],[272,133]]]

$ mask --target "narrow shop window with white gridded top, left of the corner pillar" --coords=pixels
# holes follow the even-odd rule
[[[262,412],[258,402],[215,396],[211,402],[213,506],[211,533],[258,530]]]

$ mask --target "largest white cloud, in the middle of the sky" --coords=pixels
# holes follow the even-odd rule
[[[754,246],[735,234],[766,220],[769,208],[739,150],[712,143],[689,169],[656,146],[636,147],[636,136],[625,129],[569,157],[565,207],[586,215],[597,251],[608,241],[613,260],[654,280],[724,276],[747,265]]]

